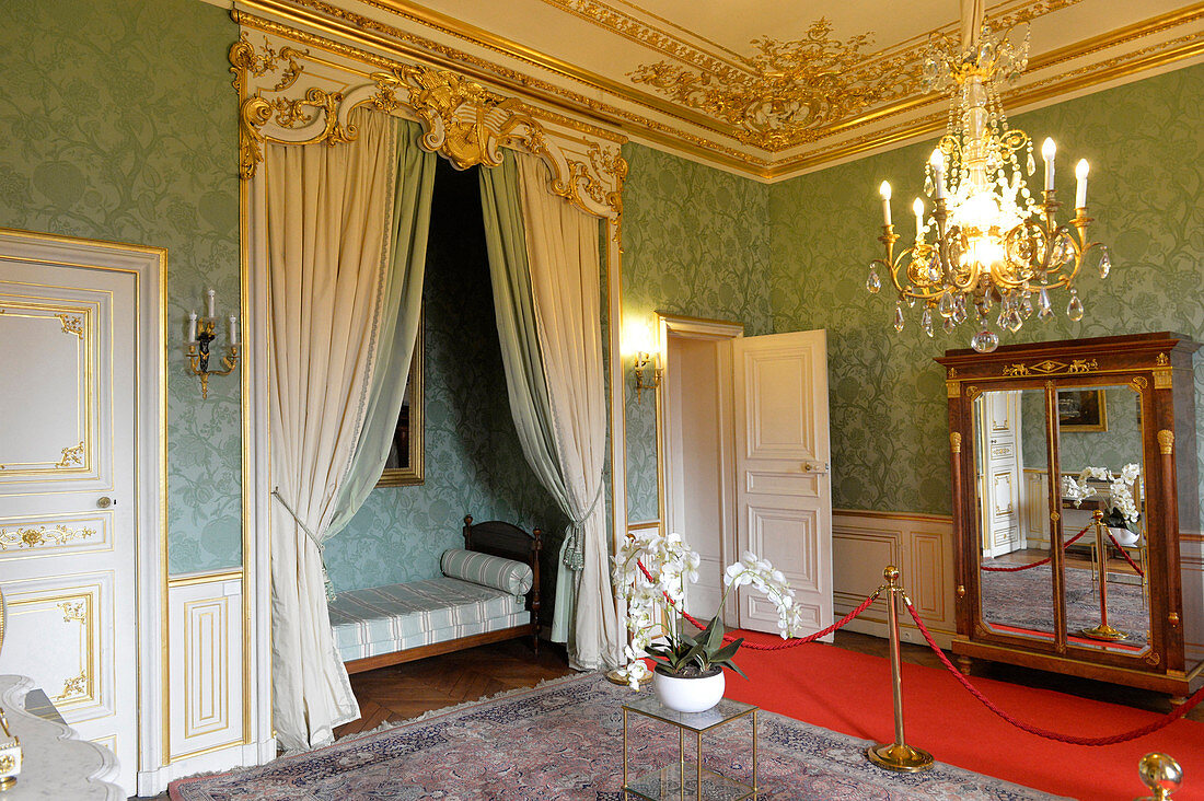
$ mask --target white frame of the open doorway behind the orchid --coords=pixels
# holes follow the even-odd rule
[[[660,351],[662,373],[661,385],[656,393],[656,461],[661,466],[659,477],[661,525],[663,530],[669,529],[669,520],[674,517],[671,508],[668,488],[673,478],[673,459],[671,454],[669,432],[672,431],[673,412],[669,388],[674,381],[669,370],[668,342],[669,336],[685,340],[702,340],[709,342],[731,342],[744,336],[743,323],[728,323],[725,320],[710,320],[698,317],[685,317],[671,314],[668,312],[656,312],[656,337]],[[719,364],[716,376],[720,383],[719,402],[719,464],[720,464],[720,496],[719,510],[724,522],[720,531],[720,560],[730,564],[736,560],[736,418],[732,395],[732,351],[731,348],[716,348]],[[722,589],[722,588],[720,588]],[[736,597],[727,600],[728,620],[737,619]]]

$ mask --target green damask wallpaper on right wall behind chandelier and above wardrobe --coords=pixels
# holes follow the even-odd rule
[[[1087,313],[1031,320],[1005,342],[1176,330],[1204,340],[1204,66],[1178,70],[1020,114],[1038,142],[1058,143],[1060,185],[1091,161],[1093,238],[1112,252],[1112,272],[1080,279]],[[869,295],[867,265],[879,254],[878,184],[895,187],[896,217],[919,194],[925,142],[769,187],[769,287],[775,331],[828,330],[833,505],[949,512],[943,373],[932,358],[968,346],[908,318],[891,328],[893,300]],[[1040,179],[1040,172],[1037,175]],[[963,326],[964,328],[964,326]],[[1197,361],[1197,407],[1204,369]]]

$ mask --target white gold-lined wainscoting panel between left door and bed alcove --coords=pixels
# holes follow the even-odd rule
[[[243,744],[241,571],[172,576],[167,606],[175,766]],[[240,761],[230,754],[230,765]]]

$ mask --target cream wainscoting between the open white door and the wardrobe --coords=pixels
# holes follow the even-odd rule
[[[895,565],[903,587],[937,643],[948,648],[954,617],[954,524],[934,514],[832,510],[832,584],[837,617],[856,608],[883,583],[883,569]],[[886,607],[874,603],[848,625],[887,636]],[[899,637],[922,643],[911,617],[899,618]]]

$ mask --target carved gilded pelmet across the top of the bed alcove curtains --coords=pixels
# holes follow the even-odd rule
[[[450,70],[380,59],[360,69],[338,64],[297,42],[266,35],[254,46],[247,31],[230,48],[238,92],[238,172],[250,178],[264,142],[336,146],[358,135],[350,113],[360,106],[415,119],[421,146],[456,169],[502,163],[502,148],[538,155],[549,167],[549,192],[597,217],[615,220],[619,238],[627,163],[613,136],[606,141],[549,125],[568,118],[507,98]]]

